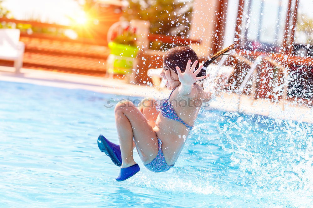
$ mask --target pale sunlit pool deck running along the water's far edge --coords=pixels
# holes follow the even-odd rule
[[[21,69],[20,74],[16,74],[13,67],[0,67],[0,81],[22,82],[67,89],[83,89],[113,95],[154,97],[156,99],[166,97],[169,93],[168,90],[160,91],[147,85],[128,84],[124,80],[112,78],[24,68]],[[224,92],[210,101],[210,107],[223,111],[237,111],[238,103],[239,96],[237,94]],[[290,101],[285,101],[283,105],[282,103],[275,104],[265,99],[251,100],[248,96],[242,95],[239,111],[284,120],[313,123],[313,108]]]

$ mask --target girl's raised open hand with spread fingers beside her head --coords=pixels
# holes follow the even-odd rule
[[[190,68],[190,64],[191,64],[191,60],[189,59],[186,65],[186,70],[185,72],[181,72],[179,67],[176,67],[177,70],[177,74],[178,74],[178,78],[179,81],[183,84],[183,85],[188,85],[191,86],[193,85],[193,83],[204,79],[206,76],[202,76],[202,77],[197,77],[198,73],[201,71],[203,65],[201,65],[196,71],[195,68],[197,66],[198,61],[195,61],[191,68]]]

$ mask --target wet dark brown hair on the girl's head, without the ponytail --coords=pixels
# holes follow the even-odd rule
[[[196,52],[194,52],[194,50],[192,50],[190,47],[178,46],[171,48],[164,54],[163,63],[165,66],[171,68],[177,74],[176,67],[178,66],[181,72],[184,72],[189,59],[191,60],[190,66],[192,66],[192,64],[196,60],[198,61],[198,64],[196,66],[197,70],[199,67],[199,59]],[[205,70],[201,69],[197,77],[202,77],[205,74]]]

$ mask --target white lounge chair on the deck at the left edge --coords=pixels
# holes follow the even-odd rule
[[[0,59],[14,61],[15,72],[23,66],[25,44],[19,41],[20,30],[0,29]]]

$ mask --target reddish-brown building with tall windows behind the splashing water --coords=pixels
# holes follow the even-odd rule
[[[313,99],[313,44],[301,40],[298,34],[299,18],[307,14],[305,21],[313,22],[312,12],[307,10],[313,7],[313,2],[196,0],[194,4],[191,35],[202,38],[202,44],[193,48],[202,54],[203,60],[233,42],[238,45],[236,54],[227,61],[236,69],[230,80],[235,83],[234,91],[239,90],[251,63],[263,55],[288,70],[288,97],[300,97],[307,102]],[[281,67],[265,60],[258,65],[255,98],[274,100],[280,94],[274,91],[284,84]],[[245,93],[250,93],[249,88]]]

